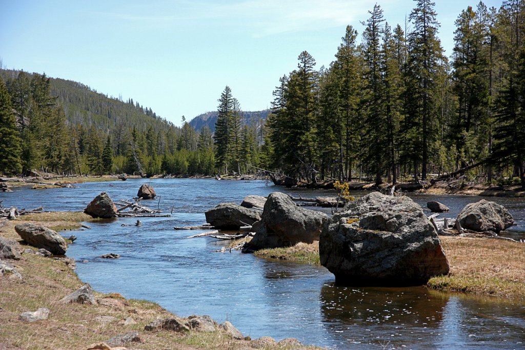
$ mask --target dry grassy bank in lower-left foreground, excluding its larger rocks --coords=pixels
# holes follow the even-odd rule
[[[33,222],[55,229],[80,227],[80,221],[91,218],[82,213],[42,213],[22,217],[24,220],[1,221],[0,235],[20,242],[14,226]],[[75,231],[81,236],[80,231]],[[67,231],[62,232],[67,236]],[[21,242],[20,242],[21,243]],[[73,243],[74,244],[74,243]],[[21,243],[22,249],[36,248]],[[125,299],[118,293],[95,292],[96,305],[61,304],[65,295],[80,288],[80,281],[71,269],[71,259],[57,260],[33,253],[24,253],[21,260],[9,260],[22,274],[0,277],[0,348],[16,349],[87,349],[93,343],[128,332],[138,332],[140,343],[128,346],[141,349],[173,348],[203,349],[282,349],[301,346],[292,339],[275,342],[269,337],[258,340],[235,339],[223,330],[215,332],[145,331],[156,319],[172,319],[176,315],[160,305],[134,299]],[[20,320],[19,314],[39,307],[50,310],[49,318],[33,323]],[[301,346],[319,349],[313,346]]]

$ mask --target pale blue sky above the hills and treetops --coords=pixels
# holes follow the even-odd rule
[[[445,54],[454,21],[475,0],[435,0]],[[405,26],[415,1],[381,0]],[[486,0],[488,7],[501,0]],[[225,86],[245,111],[270,107],[279,78],[306,50],[316,68],[334,60],[346,25],[361,34],[367,0],[0,0],[3,68],[74,80],[132,98],[182,125],[217,109]]]

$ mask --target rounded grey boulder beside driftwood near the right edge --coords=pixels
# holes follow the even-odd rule
[[[457,220],[463,228],[496,233],[511,227],[514,223],[512,215],[505,207],[485,199],[467,204],[459,213]]]

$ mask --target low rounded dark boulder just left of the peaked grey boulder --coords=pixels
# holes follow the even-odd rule
[[[261,218],[257,211],[233,203],[220,203],[207,210],[204,215],[206,222],[221,230],[235,230],[245,226],[244,224],[252,225]]]

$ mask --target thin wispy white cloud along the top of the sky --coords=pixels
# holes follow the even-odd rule
[[[384,0],[384,4],[394,0]],[[148,25],[205,25],[242,27],[254,37],[298,33],[350,24],[367,18],[368,0],[240,0],[230,2],[167,1],[137,4],[122,12],[99,12],[117,20]]]

